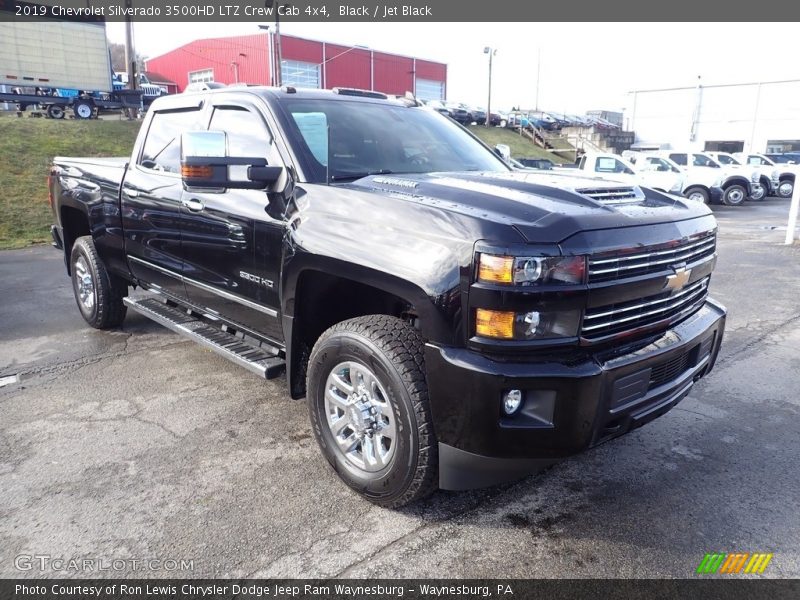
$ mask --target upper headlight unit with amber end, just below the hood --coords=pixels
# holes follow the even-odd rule
[[[583,256],[501,256],[478,257],[478,281],[516,285],[576,284],[586,276]]]

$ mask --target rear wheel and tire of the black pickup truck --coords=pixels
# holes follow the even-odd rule
[[[75,240],[70,254],[70,272],[75,302],[83,319],[95,329],[121,325],[127,312],[122,299],[128,295],[128,286],[106,271],[92,236]]]

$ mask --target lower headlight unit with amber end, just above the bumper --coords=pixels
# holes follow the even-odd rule
[[[475,334],[500,340],[541,340],[578,335],[580,310],[514,312],[479,308]]]

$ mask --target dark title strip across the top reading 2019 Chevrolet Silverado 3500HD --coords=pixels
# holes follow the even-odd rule
[[[135,22],[554,22],[767,21],[800,17],[800,3],[761,0],[0,0],[0,21],[87,19]],[[531,32],[535,35],[535,31]],[[602,28],[598,29],[602,38]],[[635,31],[631,43],[638,44]],[[674,40],[673,43],[680,43]]]

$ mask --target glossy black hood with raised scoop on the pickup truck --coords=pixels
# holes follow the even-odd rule
[[[710,214],[705,205],[677,196],[552,171],[373,175],[347,187],[507,224],[529,243]]]

